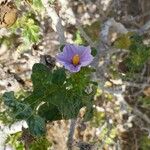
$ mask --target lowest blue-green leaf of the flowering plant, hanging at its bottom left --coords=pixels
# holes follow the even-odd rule
[[[42,136],[45,134],[45,120],[39,115],[33,115],[27,120],[29,131],[33,136]]]

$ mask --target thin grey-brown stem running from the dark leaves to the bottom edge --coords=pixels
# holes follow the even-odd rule
[[[77,119],[71,119],[70,130],[69,130],[68,141],[67,141],[68,150],[72,150],[73,147],[73,135],[75,131],[76,122]]]

